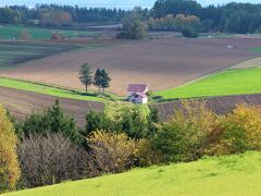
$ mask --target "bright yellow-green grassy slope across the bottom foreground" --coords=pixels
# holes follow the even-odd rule
[[[260,195],[261,154],[206,158],[190,163],[136,169],[10,196],[57,195]]]

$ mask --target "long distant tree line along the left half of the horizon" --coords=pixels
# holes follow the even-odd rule
[[[73,22],[121,22],[124,10],[105,8],[79,8],[57,4],[37,4],[34,9],[24,5],[0,8],[0,23],[34,24],[41,26],[71,26]]]

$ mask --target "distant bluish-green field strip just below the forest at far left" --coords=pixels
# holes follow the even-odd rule
[[[33,39],[50,39],[52,32],[59,32],[65,37],[83,37],[83,36],[97,36],[97,32],[88,30],[63,30],[53,28],[38,28],[38,27],[25,27],[25,26],[1,26],[0,39],[12,40],[18,38],[22,30],[27,30]]]

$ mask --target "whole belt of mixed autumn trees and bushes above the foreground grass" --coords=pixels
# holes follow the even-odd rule
[[[82,130],[58,101],[24,122],[12,119],[14,126],[2,108],[0,114],[0,192],[261,150],[260,107],[216,115],[203,102],[184,101],[160,122],[156,110],[114,103],[87,114]]]

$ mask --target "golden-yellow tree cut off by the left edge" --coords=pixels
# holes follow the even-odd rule
[[[13,125],[5,110],[0,107],[0,193],[14,189],[20,180],[16,143]]]

